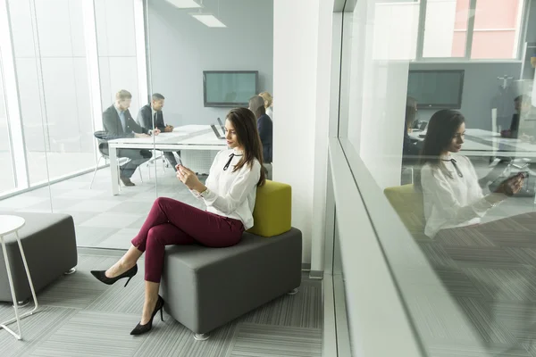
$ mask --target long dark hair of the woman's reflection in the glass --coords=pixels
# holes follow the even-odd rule
[[[452,143],[452,138],[460,125],[465,123],[465,117],[461,112],[450,109],[443,109],[435,112],[426,128],[426,137],[424,137],[423,150],[419,166],[429,163],[431,166],[439,167],[441,164],[440,156]],[[416,184],[421,187],[421,175],[416,179]]]

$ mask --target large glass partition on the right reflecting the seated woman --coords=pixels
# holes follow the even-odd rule
[[[373,341],[360,324],[368,307],[383,316],[374,325],[383,344],[400,355],[532,356],[536,3],[346,6],[330,154],[340,245],[333,266],[339,259],[354,355]],[[351,177],[346,186],[340,162]],[[512,177],[523,179],[505,194]],[[371,236],[367,224],[345,221],[349,197],[352,207],[363,203]],[[389,271],[385,280],[363,253],[371,245]],[[398,296],[406,319],[399,334],[409,332],[415,354],[393,343],[381,281]],[[387,351],[380,341],[375,351]]]

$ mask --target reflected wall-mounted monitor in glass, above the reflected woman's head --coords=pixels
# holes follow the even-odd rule
[[[407,95],[419,109],[460,109],[464,89],[464,70],[409,71]]]

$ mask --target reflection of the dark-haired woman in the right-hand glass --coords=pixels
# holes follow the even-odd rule
[[[473,164],[457,154],[464,144],[465,118],[460,112],[442,110],[432,115],[424,139],[420,180],[426,226],[435,237],[444,229],[473,227],[482,216],[523,187],[523,175],[505,180],[490,195],[483,195]]]

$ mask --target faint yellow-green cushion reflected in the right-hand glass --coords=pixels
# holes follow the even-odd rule
[[[423,194],[415,191],[413,184],[387,187],[383,193],[398,213],[407,230],[414,237],[425,237]]]

